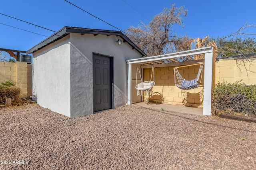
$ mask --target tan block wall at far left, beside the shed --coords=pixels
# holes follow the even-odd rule
[[[0,82],[8,80],[21,88],[21,98],[32,96],[32,64],[0,62]]]

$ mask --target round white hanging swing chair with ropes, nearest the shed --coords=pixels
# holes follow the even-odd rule
[[[137,72],[136,72],[136,90],[137,90],[137,96],[142,96],[143,95],[143,92],[145,91],[146,95],[148,96],[153,96],[153,92],[152,92],[152,88],[153,86],[155,85],[155,76],[153,74],[154,72],[154,66],[152,66],[152,72],[151,72],[151,78],[150,78],[150,81],[144,81],[142,82],[142,77],[141,77],[141,74],[140,74],[140,80],[141,82],[139,84],[137,84],[137,77],[138,77],[138,70],[139,70],[139,73],[140,73],[140,69],[138,69],[137,67]],[[152,80],[152,74],[153,74],[153,81]]]

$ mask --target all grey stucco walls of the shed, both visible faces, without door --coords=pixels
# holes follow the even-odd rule
[[[70,33],[34,53],[33,96],[38,104],[68,117],[92,114],[92,57],[96,53],[113,58],[112,107],[125,105],[126,60],[141,55],[127,43],[118,45],[118,39],[116,35]]]

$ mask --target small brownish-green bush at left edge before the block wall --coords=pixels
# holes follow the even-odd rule
[[[0,84],[0,103],[5,102],[6,98],[14,101],[20,98],[20,88],[15,85],[11,80]]]

